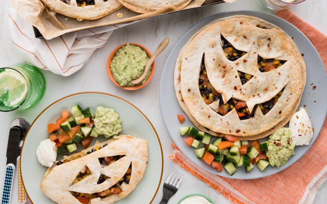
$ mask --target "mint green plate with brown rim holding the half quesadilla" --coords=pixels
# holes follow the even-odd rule
[[[20,160],[22,180],[30,201],[35,204],[54,203],[40,188],[47,167],[39,163],[36,149],[40,142],[49,136],[47,124],[60,118],[62,110],[70,110],[76,104],[82,108],[90,107],[93,113],[97,106],[114,108],[122,120],[121,134],[147,140],[148,164],[144,177],[128,196],[116,203],[151,203],[157,194],[163,172],[163,153],[159,137],[151,122],[138,108],[117,96],[99,92],[83,92],[66,96],[49,105],[32,123],[23,143]],[[91,145],[94,145],[96,140],[104,142],[108,139],[99,135],[93,139]],[[77,146],[77,151],[84,149],[81,145]],[[57,160],[62,159],[62,156],[58,155]]]

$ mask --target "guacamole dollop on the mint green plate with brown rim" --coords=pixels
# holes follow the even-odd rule
[[[122,131],[121,119],[112,108],[97,107],[95,111],[95,132],[105,137],[116,135]]]

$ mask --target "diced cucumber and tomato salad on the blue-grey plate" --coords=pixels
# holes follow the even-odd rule
[[[254,164],[262,171],[269,165],[265,152],[268,150],[268,141],[260,143],[258,140],[240,140],[238,136],[227,134],[216,137],[210,143],[213,136],[194,127],[181,127],[180,133],[181,136],[188,135],[184,141],[190,147],[196,148],[194,152],[197,158],[203,159],[219,172],[224,167],[232,176],[239,166],[244,166],[245,171],[249,172]],[[200,147],[201,143],[204,147]]]

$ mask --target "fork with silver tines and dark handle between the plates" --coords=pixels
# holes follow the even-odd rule
[[[163,199],[161,200],[160,204],[166,204],[168,200],[174,196],[174,194],[177,192],[181,185],[181,181],[183,178],[183,175],[178,174],[178,176],[175,179],[175,176],[177,172],[175,172],[173,178],[170,180],[171,176],[173,175],[174,171],[172,171],[168,178],[164,181],[163,184]],[[178,178],[181,175],[180,178]],[[169,182],[170,181],[170,182]]]

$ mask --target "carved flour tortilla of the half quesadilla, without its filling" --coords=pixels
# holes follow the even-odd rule
[[[108,145],[91,154],[87,154],[88,151],[91,151],[96,146],[102,147],[104,144]],[[100,165],[98,158],[115,155],[125,156],[111,165],[105,167]],[[79,204],[80,202],[72,196],[70,191],[96,193],[107,190],[125,175],[129,165],[132,164],[129,184],[124,182],[120,185],[122,188],[120,194],[114,194],[102,199],[98,197],[90,201],[92,204],[110,204],[126,197],[142,180],[147,164],[147,141],[129,135],[119,135],[118,139],[109,139],[106,142],[96,144],[93,147],[64,157],[64,159],[73,159],[77,156],[82,157],[48,168],[40,185],[44,194],[59,204]],[[71,185],[77,174],[85,165],[91,170],[92,174],[76,184]],[[104,174],[110,177],[110,179],[107,179],[101,184],[97,184],[100,174]]]

